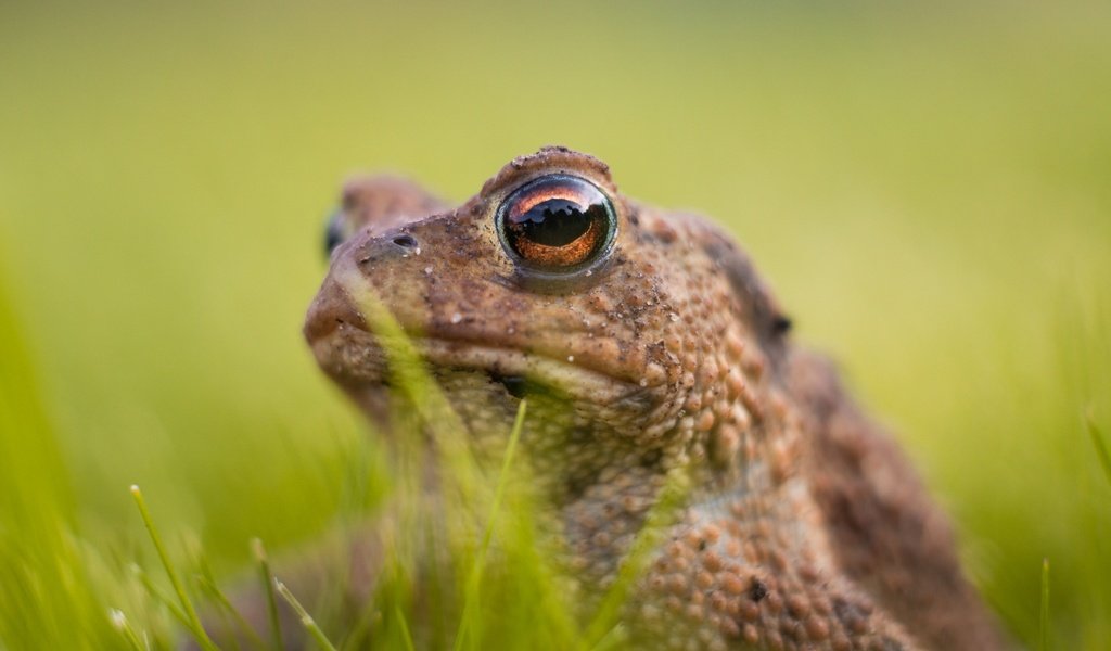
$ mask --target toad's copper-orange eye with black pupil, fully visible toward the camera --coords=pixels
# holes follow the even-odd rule
[[[597,186],[567,174],[531,181],[498,208],[502,246],[520,264],[570,273],[599,260],[613,242],[617,213]]]

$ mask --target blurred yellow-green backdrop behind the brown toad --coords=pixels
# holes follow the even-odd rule
[[[546,143],[727,223],[1015,638],[1048,558],[1057,645],[1111,648],[1107,2],[0,4],[0,648],[102,628],[131,483],[218,572],[327,527],[339,181]]]

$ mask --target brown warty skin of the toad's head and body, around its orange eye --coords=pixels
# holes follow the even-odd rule
[[[553,173],[615,208],[612,250],[589,273],[538,278],[496,230],[507,196]],[[358,308],[372,292],[476,437],[512,422],[512,380],[543,387],[522,445],[582,585],[613,580],[668,477],[685,473],[624,611],[635,644],[1002,647],[907,460],[830,364],[789,342],[713,224],[633,202],[605,164],[563,148],[513,160],[454,210],[381,179],[349,182],[344,207],[361,229],[304,327],[321,368],[383,421],[386,355]]]

